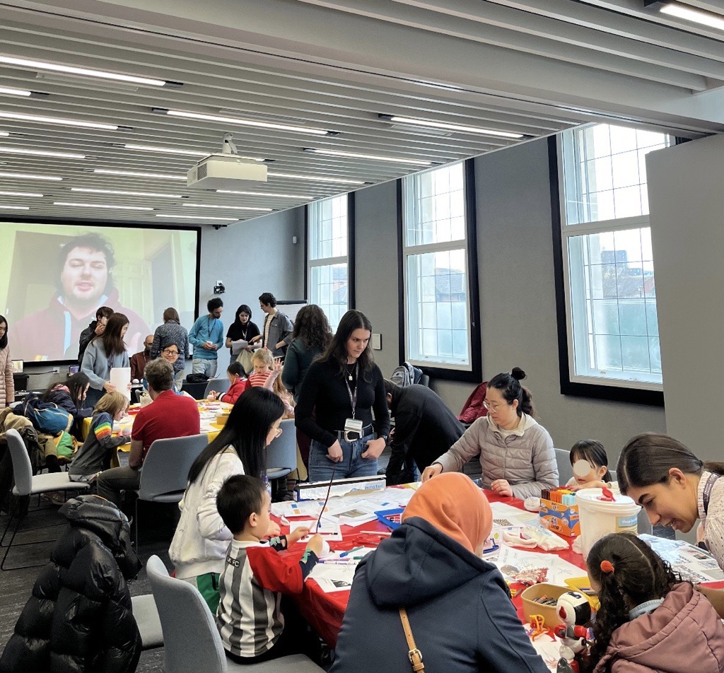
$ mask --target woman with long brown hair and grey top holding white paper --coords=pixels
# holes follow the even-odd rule
[[[126,344],[123,342],[127,329],[128,318],[123,313],[114,313],[108,319],[106,331],[96,336],[85,349],[80,370],[90,381],[85,398],[87,407],[95,407],[104,393],[115,391],[116,386],[110,381],[112,368],[130,367]]]

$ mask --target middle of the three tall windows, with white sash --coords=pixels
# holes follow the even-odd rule
[[[465,182],[463,163],[403,179],[404,357],[471,372],[478,357],[471,345]]]

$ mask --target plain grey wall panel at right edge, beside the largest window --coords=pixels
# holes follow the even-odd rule
[[[652,152],[647,174],[666,427],[722,460],[709,416],[724,397],[724,136]]]

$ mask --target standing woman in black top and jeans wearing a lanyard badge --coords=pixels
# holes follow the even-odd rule
[[[382,372],[369,347],[371,333],[364,313],[348,311],[304,377],[295,418],[296,426],[312,438],[309,481],[329,481],[333,470],[338,479],[377,473],[390,412]]]

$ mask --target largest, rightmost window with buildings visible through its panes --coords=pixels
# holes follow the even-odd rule
[[[645,156],[671,140],[607,124],[561,135],[572,383],[661,389]]]

